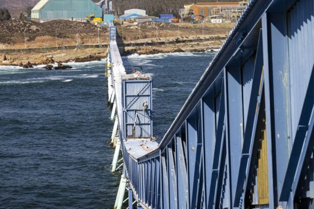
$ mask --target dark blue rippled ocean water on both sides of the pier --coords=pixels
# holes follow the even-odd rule
[[[210,53],[124,57],[153,77],[158,141],[212,59]],[[113,122],[102,62],[71,70],[0,66],[0,208],[112,208]]]

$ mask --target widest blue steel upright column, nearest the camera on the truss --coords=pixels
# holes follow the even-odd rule
[[[274,179],[273,185],[270,185],[274,191],[274,207],[281,205],[286,206],[286,199],[278,199],[283,188],[283,181],[290,151],[288,147],[292,146],[291,124],[289,114],[289,82],[288,67],[286,60],[286,15],[267,14],[263,17],[263,43],[264,45],[264,69],[265,69],[265,106],[266,106],[266,123],[268,149],[270,158],[276,167],[272,170],[273,175],[269,176]],[[265,31],[264,31],[265,29]],[[265,38],[265,41],[264,41]],[[267,62],[265,63],[265,60]],[[271,140],[271,141],[269,141]],[[271,158],[272,157],[272,158]],[[271,159],[273,161],[271,161]],[[270,172],[271,170],[269,170]],[[276,190],[275,190],[276,189]]]

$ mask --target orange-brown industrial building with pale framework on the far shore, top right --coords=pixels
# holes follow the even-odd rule
[[[243,2],[214,2],[184,5],[179,10],[181,18],[191,15],[201,15],[207,19],[236,20],[245,10],[246,1]]]

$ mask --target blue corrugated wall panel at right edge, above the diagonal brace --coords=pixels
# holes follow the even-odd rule
[[[281,76],[284,77],[285,88],[290,86],[291,89],[293,138],[314,64],[313,4],[312,0],[300,1],[287,13],[289,72]]]

